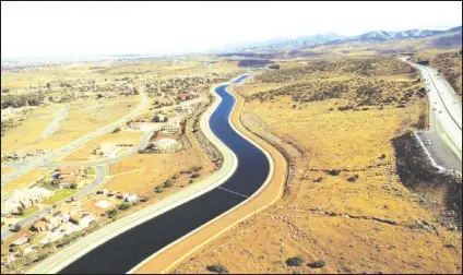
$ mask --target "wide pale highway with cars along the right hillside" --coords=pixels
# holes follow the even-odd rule
[[[405,61],[405,59],[402,59]],[[439,160],[446,168],[461,171],[462,160],[462,106],[451,86],[444,79],[438,75],[436,69],[408,62],[418,69],[425,83],[429,101],[429,131],[422,135],[428,136],[432,141],[429,150],[431,156]],[[435,134],[437,133],[437,134]],[[460,160],[455,163],[455,157],[449,157],[449,151],[443,150],[446,144]]]

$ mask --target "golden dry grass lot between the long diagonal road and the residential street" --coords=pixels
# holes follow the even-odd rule
[[[94,150],[100,147],[102,144],[133,144],[138,146],[143,132],[141,131],[120,131],[117,133],[107,133],[87,142],[84,146],[78,148],[71,154],[64,156],[60,160],[63,162],[80,162],[100,158],[100,155],[94,155]],[[133,148],[133,147],[127,147]]]

